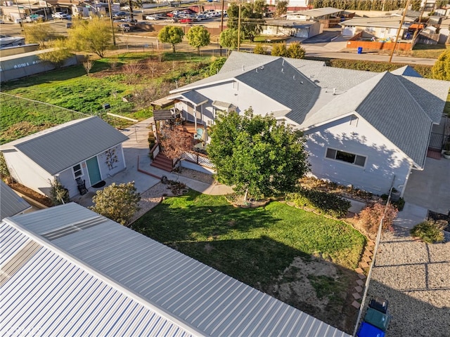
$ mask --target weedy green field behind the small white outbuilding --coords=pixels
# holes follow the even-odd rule
[[[82,114],[1,95],[0,143],[85,114],[102,114],[105,118],[105,103],[110,104],[109,112],[114,114],[139,120],[148,118],[152,115],[152,100],[167,95],[176,87],[176,81],[187,84],[203,78],[210,61],[192,53],[124,53],[96,60],[90,76],[86,76],[82,65],[77,65],[8,81],[1,86],[3,93]],[[137,62],[141,63],[136,66]],[[129,102],[124,102],[122,97],[129,98]]]

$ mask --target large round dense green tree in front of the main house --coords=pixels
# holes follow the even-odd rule
[[[293,192],[309,169],[301,131],[278,124],[272,115],[220,115],[211,130],[208,155],[221,183],[253,197]]]

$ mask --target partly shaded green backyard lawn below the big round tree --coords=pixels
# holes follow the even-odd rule
[[[167,244],[257,289],[266,289],[297,256],[353,269],[365,239],[351,226],[278,201],[257,209],[190,191],[169,197],[133,224]]]

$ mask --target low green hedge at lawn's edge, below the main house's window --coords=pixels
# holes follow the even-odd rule
[[[342,218],[347,215],[351,206],[350,201],[335,194],[307,188],[301,188],[297,193],[288,194],[287,199],[302,209],[312,209],[316,213],[326,214],[333,218]]]

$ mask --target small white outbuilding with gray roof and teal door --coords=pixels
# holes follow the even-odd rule
[[[22,185],[49,196],[58,178],[70,197],[125,169],[120,131],[100,119],[88,117],[53,126],[0,146],[11,176]]]

